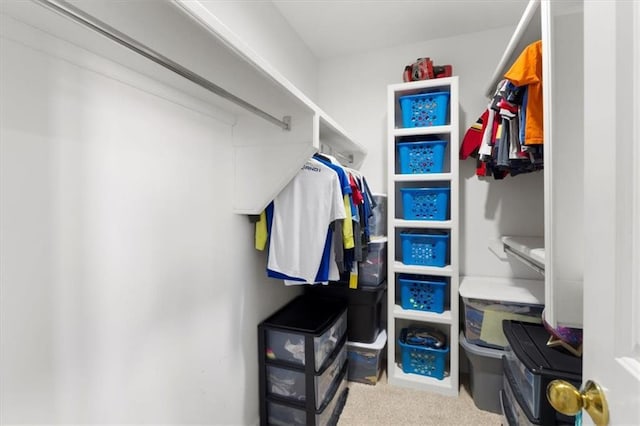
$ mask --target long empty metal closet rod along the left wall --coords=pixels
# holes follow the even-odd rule
[[[166,56],[156,52],[153,49],[150,49],[149,47],[145,46],[142,43],[139,43],[138,41],[132,39],[131,37],[127,36],[126,34],[118,31],[117,29],[111,27],[110,25],[100,21],[99,19],[83,12],[82,10],[72,6],[71,4],[63,1],[63,0],[33,0],[36,3],[39,3],[40,5],[47,7],[50,10],[53,10],[54,12],[59,13],[60,15],[63,15],[67,18],[70,18],[100,34],[102,34],[103,36],[115,41],[116,43],[119,43],[120,45],[138,53],[139,55],[144,56],[147,59],[152,60],[153,62],[155,62],[158,65],[161,65],[165,68],[167,68],[168,70],[173,71],[174,73],[186,78],[189,81],[192,81],[193,83],[197,84],[198,86],[224,98],[227,99],[231,102],[233,102],[234,104],[246,109],[247,111],[250,111],[262,118],[264,118],[265,120],[275,124],[278,127],[281,127],[284,130],[291,130],[291,117],[286,116],[284,117],[282,120],[274,117],[273,115],[261,110],[260,108],[250,104],[249,102],[245,101],[244,99],[241,99],[239,97],[237,97],[236,95],[227,92],[225,89],[223,89],[222,87],[218,86],[217,84],[212,83],[211,81],[207,80],[206,78],[196,74],[195,72],[189,70],[188,68],[183,67],[182,65],[178,64],[177,62],[172,61],[171,59],[167,58]]]

